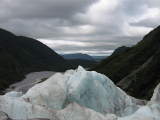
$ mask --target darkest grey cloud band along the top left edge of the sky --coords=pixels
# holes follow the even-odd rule
[[[96,0],[2,0],[3,17],[7,18],[68,18],[85,12]]]

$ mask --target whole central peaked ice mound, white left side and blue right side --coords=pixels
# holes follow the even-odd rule
[[[138,109],[134,100],[109,78],[82,67],[71,73],[53,75],[32,87],[23,98],[51,109],[62,109],[66,104],[76,102],[103,114],[119,116],[125,109],[130,109],[131,113]]]

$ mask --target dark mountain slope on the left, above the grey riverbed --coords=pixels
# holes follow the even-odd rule
[[[33,71],[60,71],[67,61],[39,41],[0,29],[0,91]]]

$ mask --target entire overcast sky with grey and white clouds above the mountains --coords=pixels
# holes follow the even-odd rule
[[[160,0],[1,0],[0,27],[58,53],[108,55],[160,23]]]

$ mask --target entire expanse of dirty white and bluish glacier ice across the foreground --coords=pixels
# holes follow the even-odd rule
[[[160,120],[160,84],[150,101],[138,100],[108,77],[79,66],[55,73],[25,94],[0,96],[0,111],[13,120]]]

